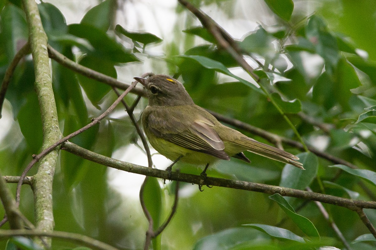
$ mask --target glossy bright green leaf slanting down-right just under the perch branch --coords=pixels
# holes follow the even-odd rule
[[[276,201],[280,208],[287,214],[288,217],[309,237],[320,237],[317,232],[317,229],[313,223],[308,220],[306,217],[301,216],[300,214],[295,213],[293,207],[279,194],[269,196],[269,199]]]

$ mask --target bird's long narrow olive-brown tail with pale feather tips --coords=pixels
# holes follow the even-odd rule
[[[271,147],[267,144],[258,142],[252,138],[242,138],[241,145],[245,146],[248,151],[259,154],[261,156],[268,157],[279,162],[284,162],[296,166],[298,168],[304,169],[303,164],[298,162],[299,157],[294,156],[286,151],[280,150],[279,148]]]

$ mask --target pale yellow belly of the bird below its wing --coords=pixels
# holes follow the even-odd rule
[[[165,139],[158,138],[152,133],[146,132],[146,136],[149,139],[150,144],[153,146],[153,148],[155,148],[156,151],[172,161],[179,158],[179,156],[183,156],[180,161],[197,165],[206,165],[207,163],[213,163],[218,160],[218,158],[209,154],[204,154],[180,147],[176,144],[166,141]]]

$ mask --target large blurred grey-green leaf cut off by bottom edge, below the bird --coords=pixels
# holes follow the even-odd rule
[[[201,238],[193,250],[227,250],[246,242],[257,242],[263,235],[252,228],[230,228]],[[265,241],[268,240],[264,237]]]

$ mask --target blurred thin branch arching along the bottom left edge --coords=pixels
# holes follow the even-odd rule
[[[75,243],[83,244],[87,247],[96,248],[99,250],[118,250],[117,248],[110,246],[102,241],[93,239],[86,235],[74,234],[70,232],[62,231],[50,231],[44,232],[41,230],[0,230],[0,238],[11,238],[13,236],[45,236],[60,238],[64,240],[70,240]]]

